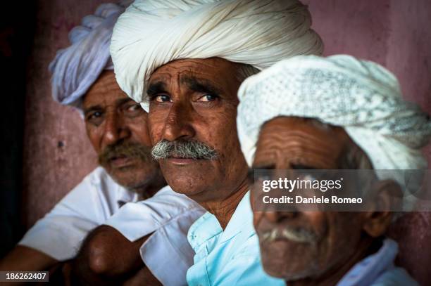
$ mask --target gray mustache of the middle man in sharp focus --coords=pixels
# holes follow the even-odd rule
[[[177,157],[193,160],[215,160],[218,153],[205,143],[200,141],[158,141],[151,150],[151,155],[155,160]]]

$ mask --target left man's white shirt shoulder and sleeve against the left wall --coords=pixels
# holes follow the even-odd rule
[[[72,259],[82,240],[137,194],[115,183],[97,167],[25,233],[18,245],[43,252],[58,261]]]

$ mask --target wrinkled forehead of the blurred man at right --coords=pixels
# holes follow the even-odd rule
[[[308,166],[317,169],[328,164],[326,167],[330,169],[330,165],[335,167],[349,146],[351,139],[342,128],[314,119],[276,117],[261,127],[254,165],[293,160],[298,164],[318,164]]]

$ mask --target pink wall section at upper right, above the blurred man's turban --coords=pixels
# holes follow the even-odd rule
[[[349,53],[387,67],[405,98],[431,114],[431,2],[303,0],[325,56]],[[424,150],[431,165],[431,145]]]

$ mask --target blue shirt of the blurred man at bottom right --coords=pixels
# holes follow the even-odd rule
[[[379,251],[359,261],[337,286],[419,286],[403,269],[394,266],[398,245],[387,238]]]

